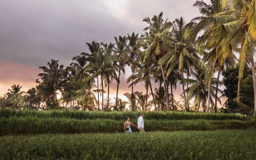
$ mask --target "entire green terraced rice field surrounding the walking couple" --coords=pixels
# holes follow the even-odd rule
[[[0,109],[0,159],[256,159],[255,118],[241,114]]]

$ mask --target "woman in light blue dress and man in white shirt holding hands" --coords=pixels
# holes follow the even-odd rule
[[[136,128],[138,128],[139,132],[145,132],[144,131],[144,120],[143,120],[144,114],[140,114],[140,117],[138,118],[138,127],[135,126],[134,124],[132,124],[132,122],[130,122],[130,117],[126,117],[126,122],[124,122],[124,132],[125,133],[132,133],[132,129],[131,126],[134,126]]]

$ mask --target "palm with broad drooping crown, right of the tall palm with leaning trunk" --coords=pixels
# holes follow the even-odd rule
[[[184,72],[190,70],[190,68],[198,62],[198,59],[200,59],[193,46],[194,39],[191,34],[187,34],[191,32],[191,30],[188,24],[185,24],[182,17],[174,20],[172,23],[172,41],[169,42],[170,51],[159,61],[161,65],[166,64],[169,67],[167,76],[178,66],[178,71],[181,72],[181,84],[186,111],[189,111],[189,107],[183,81]]]

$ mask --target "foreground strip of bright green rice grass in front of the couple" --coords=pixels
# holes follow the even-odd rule
[[[255,160],[256,129],[0,137],[0,157],[86,160]]]

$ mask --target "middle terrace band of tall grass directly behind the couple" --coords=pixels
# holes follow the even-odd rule
[[[136,120],[132,120],[136,124]],[[147,120],[146,131],[240,129],[255,125],[248,120]],[[124,120],[70,118],[0,118],[0,135],[7,134],[80,134],[89,132],[124,132]],[[132,130],[136,131],[135,128]]]

